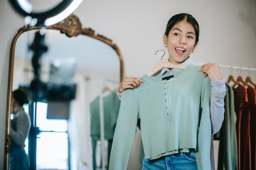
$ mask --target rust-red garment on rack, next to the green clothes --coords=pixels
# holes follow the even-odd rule
[[[234,90],[236,135],[238,143],[238,170],[251,170],[250,111],[245,86],[238,84]]]

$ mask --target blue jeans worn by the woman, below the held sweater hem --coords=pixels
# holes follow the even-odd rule
[[[162,156],[156,160],[143,159],[142,170],[197,170],[195,152]]]

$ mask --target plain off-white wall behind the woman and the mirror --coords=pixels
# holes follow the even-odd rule
[[[162,36],[167,21],[177,13],[192,14],[200,25],[199,45],[191,56],[195,62],[256,68],[255,0],[84,0],[74,12],[84,27],[111,38],[124,58],[125,75],[148,72],[164,49]],[[10,43],[23,18],[7,0],[0,2],[0,169],[3,150]],[[222,69],[227,78],[230,70]],[[239,74],[239,70],[232,72]],[[247,75],[248,72],[241,72]],[[256,82],[256,72],[251,72]]]

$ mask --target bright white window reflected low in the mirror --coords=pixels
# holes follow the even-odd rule
[[[65,119],[47,119],[47,104],[37,102],[36,169],[68,170],[68,133]]]

